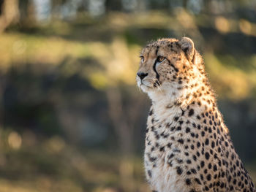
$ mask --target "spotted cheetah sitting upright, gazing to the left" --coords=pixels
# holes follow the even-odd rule
[[[144,166],[155,192],[255,191],[188,37],[143,48],[136,76],[152,101]]]

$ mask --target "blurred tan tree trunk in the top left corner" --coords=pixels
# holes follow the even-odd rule
[[[1,2],[0,32],[12,23],[18,23],[20,12],[18,0],[4,0]]]

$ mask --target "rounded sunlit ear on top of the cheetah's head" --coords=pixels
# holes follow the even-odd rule
[[[190,39],[189,37],[182,37],[178,44],[181,46],[181,50],[186,53],[187,59],[189,61],[192,61],[195,55],[195,47],[192,39]]]

